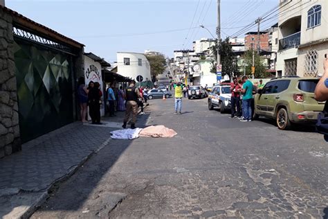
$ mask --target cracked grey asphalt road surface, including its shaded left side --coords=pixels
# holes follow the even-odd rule
[[[110,141],[32,218],[327,218],[328,143],[209,111],[206,99],[150,100],[138,125],[172,139]]]

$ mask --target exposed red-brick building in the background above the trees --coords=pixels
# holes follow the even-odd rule
[[[259,37],[257,32],[248,32],[245,36],[245,49],[255,49],[257,51],[258,39],[259,39],[259,49],[260,51],[270,51],[268,44],[269,33],[267,30],[260,31]]]

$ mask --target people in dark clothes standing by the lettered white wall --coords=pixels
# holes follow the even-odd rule
[[[89,106],[89,115],[93,124],[100,123],[100,105],[102,104],[102,91],[99,82],[89,82],[86,87],[84,78],[78,80],[78,100],[80,103],[80,114],[83,123],[88,121],[86,113]]]

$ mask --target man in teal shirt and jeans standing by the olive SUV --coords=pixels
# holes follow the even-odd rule
[[[243,114],[242,122],[252,121],[252,99],[253,99],[253,83],[246,76],[242,78],[244,85],[242,88],[243,96]]]

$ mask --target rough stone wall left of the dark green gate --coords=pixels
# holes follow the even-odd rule
[[[21,150],[12,17],[0,7],[0,158]]]

